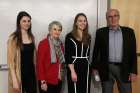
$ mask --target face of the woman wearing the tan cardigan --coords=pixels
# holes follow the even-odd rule
[[[20,28],[21,30],[28,31],[31,26],[31,19],[28,16],[23,16],[20,20]]]

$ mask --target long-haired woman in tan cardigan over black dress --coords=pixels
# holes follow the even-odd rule
[[[35,44],[31,32],[31,16],[19,12],[16,30],[8,39],[8,93],[37,93],[35,75]]]

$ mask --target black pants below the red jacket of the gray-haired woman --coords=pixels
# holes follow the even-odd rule
[[[39,81],[39,91],[40,93],[60,93],[62,82],[59,82],[57,85],[47,84],[47,91],[41,89],[41,82]]]

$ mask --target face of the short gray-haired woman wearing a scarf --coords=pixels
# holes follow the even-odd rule
[[[62,29],[58,25],[53,25],[50,30],[50,35],[53,38],[57,39],[57,38],[59,38],[61,32],[62,32]]]

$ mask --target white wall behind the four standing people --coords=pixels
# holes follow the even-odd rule
[[[16,28],[18,12],[23,10],[32,16],[32,31],[37,45],[47,35],[48,24],[53,20],[62,23],[61,38],[64,41],[66,33],[72,29],[75,15],[79,12],[87,15],[89,32],[94,43],[97,27],[106,24],[107,0],[0,0],[0,64],[7,63],[7,39]],[[4,79],[1,78],[2,75],[7,77],[2,72],[0,82]],[[4,81],[7,82],[6,79]],[[7,93],[7,83],[0,83],[0,93]]]

